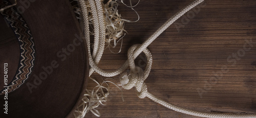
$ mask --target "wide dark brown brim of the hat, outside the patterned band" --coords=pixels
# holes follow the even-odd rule
[[[8,114],[3,111],[1,116],[71,117],[89,73],[81,30],[68,1],[28,2],[20,1],[15,7],[27,7],[21,15],[34,39],[36,57],[30,77],[8,93]],[[47,77],[41,79],[42,73]]]

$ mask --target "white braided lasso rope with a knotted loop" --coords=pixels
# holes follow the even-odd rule
[[[88,53],[89,53],[89,63],[91,66],[90,69],[90,75],[95,71],[101,76],[105,77],[113,77],[116,75],[121,74],[128,66],[131,68],[131,72],[129,74],[122,73],[120,76],[120,82],[122,84],[122,87],[124,89],[131,89],[132,87],[136,87],[137,95],[139,98],[149,98],[169,109],[194,115],[194,116],[200,116],[200,117],[230,117],[230,118],[241,118],[241,117],[256,117],[255,114],[217,114],[217,113],[206,113],[206,112],[198,112],[193,110],[184,109],[172,104],[169,104],[167,102],[164,102],[163,100],[157,98],[156,96],[152,95],[150,92],[147,92],[146,84],[144,83],[144,80],[147,78],[148,74],[151,70],[152,65],[152,55],[150,51],[148,51],[146,48],[148,45],[150,45],[164,30],[166,30],[172,23],[180,18],[183,14],[185,14],[190,9],[194,8],[203,0],[196,0],[193,3],[189,4],[182,10],[180,10],[178,13],[176,13],[173,17],[171,17],[169,20],[167,20],[162,27],[160,27],[153,35],[150,36],[145,42],[143,42],[141,45],[136,44],[131,46],[131,48],[128,51],[128,60],[117,70],[112,72],[106,72],[105,70],[100,69],[97,64],[100,61],[100,58],[104,51],[104,39],[105,39],[105,26],[104,26],[104,18],[103,18],[103,10],[101,7],[101,1],[100,0],[89,0],[89,3],[92,8],[92,15],[93,15],[93,23],[94,23],[94,48],[93,48],[93,55],[91,55],[90,50],[90,29],[89,29],[89,21],[88,21],[88,12],[86,9],[86,4],[84,0],[79,0],[79,4],[81,5],[82,9],[82,17],[83,17],[83,25],[84,25],[84,36],[86,38],[86,43],[88,46]],[[136,66],[134,63],[135,58],[141,53],[145,53],[147,58],[146,63],[146,69],[143,71],[142,68],[139,66]],[[84,115],[83,115],[84,116]]]

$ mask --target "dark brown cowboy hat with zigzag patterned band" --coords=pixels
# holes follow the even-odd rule
[[[0,9],[12,4],[0,0]],[[0,12],[0,117],[73,117],[87,55],[67,0],[17,1]]]

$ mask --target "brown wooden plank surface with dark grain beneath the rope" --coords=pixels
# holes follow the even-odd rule
[[[105,50],[99,66],[105,70],[117,69],[127,59],[127,50],[131,45],[142,43],[190,2],[141,1],[134,8],[140,20],[125,23],[129,34],[123,39],[121,53],[112,54]],[[125,19],[137,18],[131,9],[121,4],[119,12]],[[184,16],[190,18],[185,20]],[[148,46],[153,55],[152,70],[145,81],[148,91],[169,103],[191,110],[256,114],[256,1],[206,0],[200,9],[184,16]],[[183,26],[177,29],[179,23]],[[250,48],[247,51],[243,48],[246,40],[254,42],[251,48],[246,45],[245,48]],[[120,46],[112,51],[118,52],[118,48]],[[143,67],[144,61],[144,56],[139,56],[136,64]],[[217,81],[212,81],[211,78],[216,77],[215,73],[221,72],[223,66],[228,68],[228,72],[219,76]],[[97,74],[92,77],[101,81]],[[118,83],[118,77],[113,78]],[[94,86],[95,83],[90,80],[88,89]],[[205,90],[201,97],[198,89]],[[139,99],[134,88],[122,90],[124,102],[121,91],[111,84],[107,105],[98,108],[101,117],[196,118],[169,110],[147,98]],[[86,117],[96,116],[88,113]]]

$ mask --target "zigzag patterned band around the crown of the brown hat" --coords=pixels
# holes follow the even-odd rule
[[[8,1],[0,1],[0,8],[8,5],[11,5]],[[20,46],[18,69],[12,81],[8,84],[8,92],[12,92],[22,85],[31,75],[35,60],[35,45],[26,21],[17,12],[15,7],[5,9],[0,13],[14,31]],[[4,89],[0,91],[0,95],[4,93]]]

